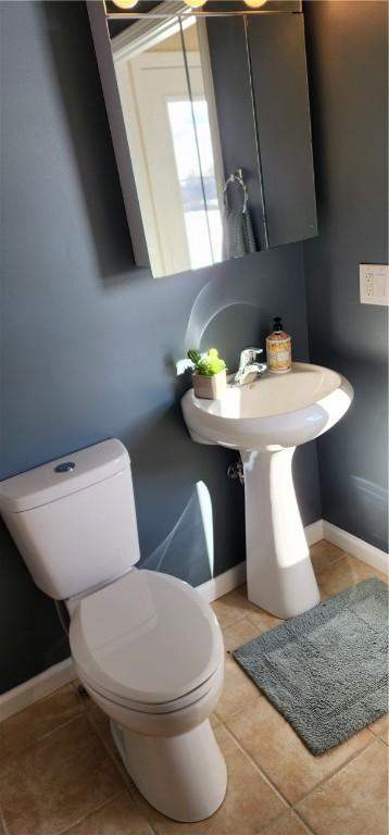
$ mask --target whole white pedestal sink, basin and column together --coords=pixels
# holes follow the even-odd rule
[[[297,446],[330,429],[353,398],[329,369],[296,362],[288,374],[266,372],[228,387],[219,400],[183,397],[191,438],[239,449],[243,462],[248,598],[277,618],[319,601],[292,481]]]

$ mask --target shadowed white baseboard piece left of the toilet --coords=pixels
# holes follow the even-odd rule
[[[42,699],[43,696],[49,696],[59,687],[68,684],[75,676],[73,661],[71,658],[66,658],[65,661],[50,666],[49,670],[43,670],[42,673],[29,678],[28,682],[23,682],[12,690],[1,694],[0,722],[14,713],[18,713],[20,710],[28,708],[38,699]]]

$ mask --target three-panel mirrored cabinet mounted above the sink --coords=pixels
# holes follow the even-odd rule
[[[303,17],[266,5],[89,3],[136,261],[154,277],[316,234]]]

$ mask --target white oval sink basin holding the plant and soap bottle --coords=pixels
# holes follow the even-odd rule
[[[200,444],[240,450],[272,450],[313,440],[334,426],[353,397],[344,377],[329,369],[296,362],[288,374],[266,372],[243,386],[230,386],[219,400],[183,398],[189,433]]]

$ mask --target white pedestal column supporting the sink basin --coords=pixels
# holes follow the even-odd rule
[[[248,598],[277,618],[319,602],[291,463],[294,447],[241,452],[244,470]]]

